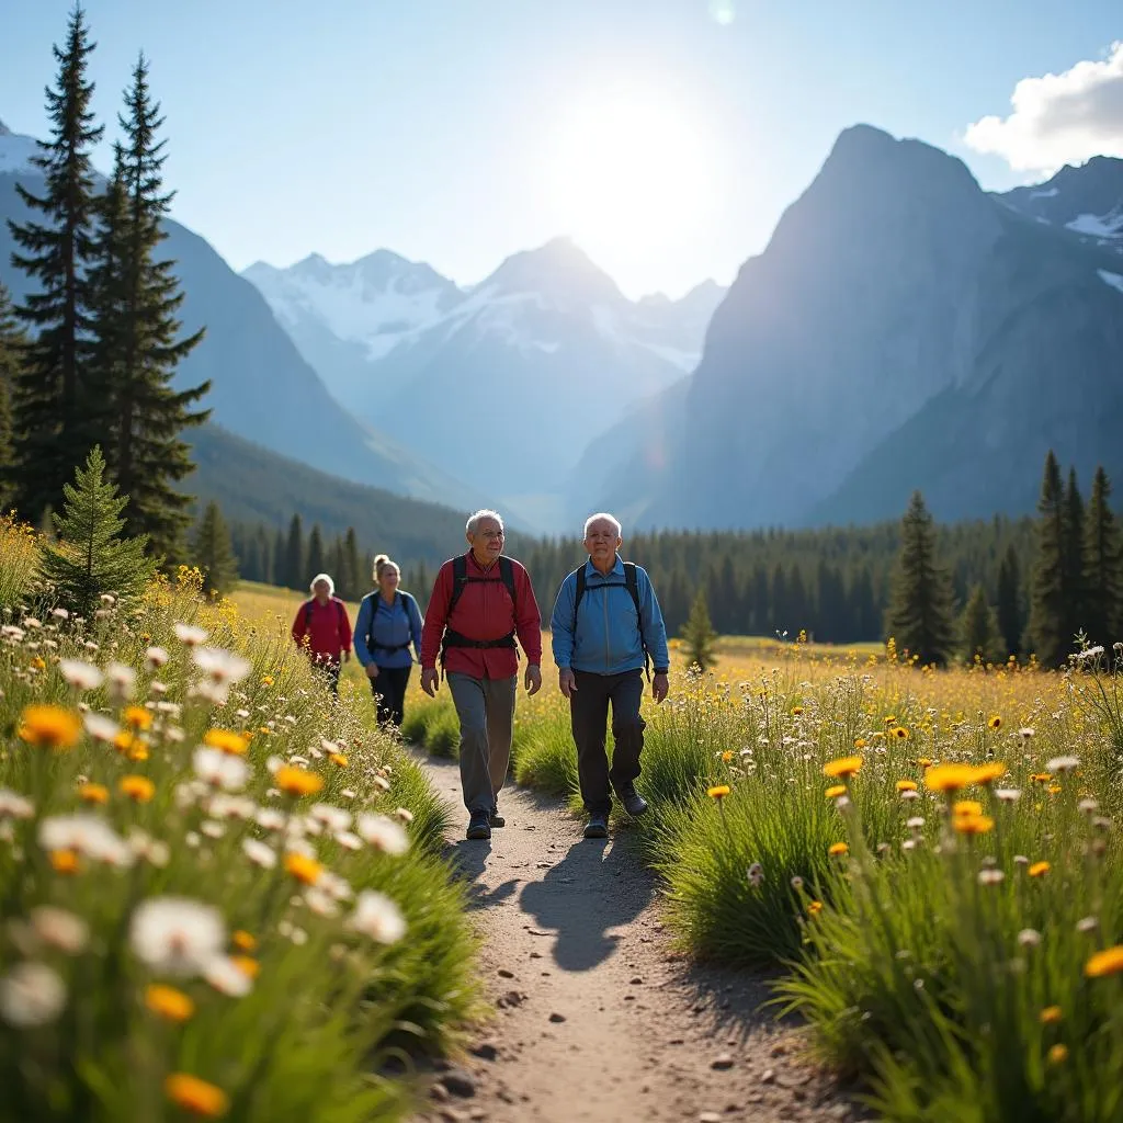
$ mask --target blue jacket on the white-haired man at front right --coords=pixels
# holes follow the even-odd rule
[[[592,560],[586,562],[585,594],[577,606],[577,627],[574,628],[576,574],[569,574],[562,582],[550,618],[554,661],[559,668],[572,667],[595,675],[638,670],[643,666],[642,633],[655,669],[667,669],[670,663],[667,629],[651,578],[639,566],[636,567],[636,583],[640,608],[638,620],[636,604],[624,584],[624,564],[619,555],[608,577],[601,575]]]

